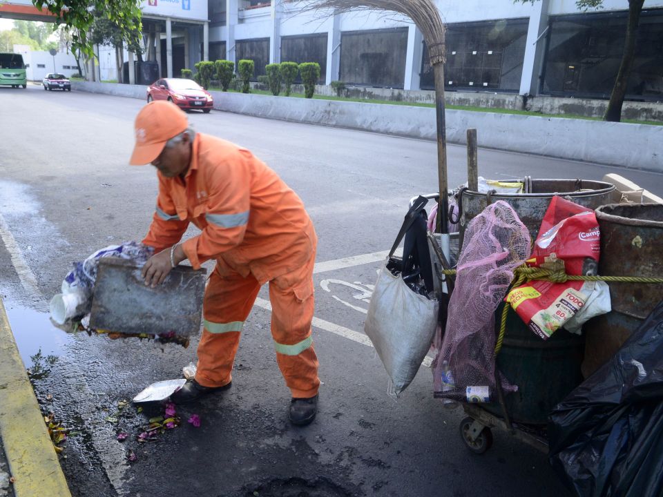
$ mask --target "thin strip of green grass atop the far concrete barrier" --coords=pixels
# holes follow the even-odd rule
[[[211,86],[209,90],[221,91],[221,88]],[[228,89],[229,93],[241,93],[240,91]],[[256,90],[251,88],[251,93],[253,95],[271,95],[270,91],[267,90]],[[287,98],[285,95],[280,95],[280,97]],[[290,97],[294,98],[304,98],[303,93],[291,93]],[[362,104],[381,104],[381,105],[400,105],[400,106],[410,106],[410,107],[434,107],[435,104],[425,104],[423,102],[407,102],[407,101],[395,101],[395,100],[375,100],[375,99],[355,99],[355,98],[345,98],[345,97],[334,97],[332,95],[314,95],[316,100],[336,100],[336,101],[349,101],[349,102],[360,102]],[[543,114],[532,112],[531,110],[512,110],[505,108],[485,108],[485,107],[474,107],[474,106],[454,106],[447,105],[446,108],[452,110],[471,110],[472,112],[483,112],[483,113],[497,113],[497,114],[515,114],[515,115],[528,115],[535,117],[549,117],[555,119],[585,119],[586,121],[602,121],[600,117],[586,117],[575,114]],[[660,121],[637,121],[635,119],[622,119],[622,122],[628,124],[648,124],[650,126],[663,126],[663,122]]]

